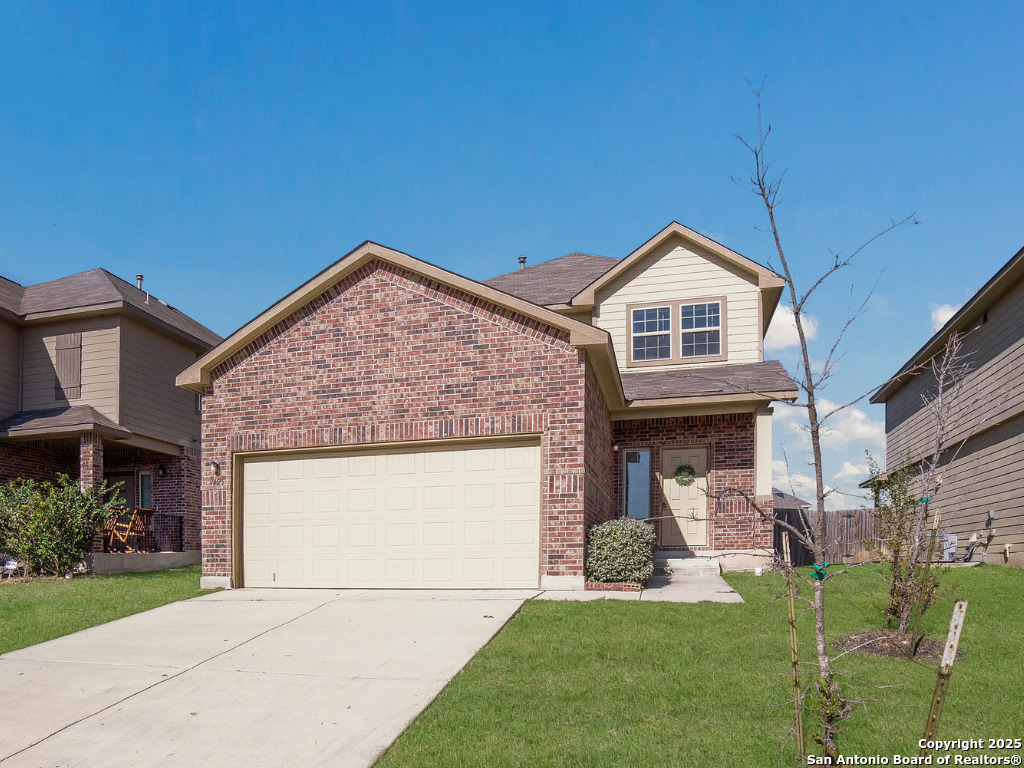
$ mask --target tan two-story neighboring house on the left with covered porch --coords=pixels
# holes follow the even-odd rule
[[[122,482],[161,548],[199,549],[200,398],[174,377],[219,341],[103,269],[0,278],[0,482]]]

